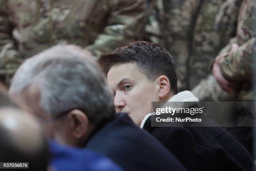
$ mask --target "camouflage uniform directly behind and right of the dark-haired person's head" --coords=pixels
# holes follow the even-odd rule
[[[235,36],[241,0],[157,0],[154,5],[159,26],[151,22],[146,31],[155,28],[149,33],[151,41],[174,56],[179,91],[192,89],[207,77],[210,61]]]

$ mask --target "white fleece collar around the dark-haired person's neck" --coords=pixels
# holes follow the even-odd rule
[[[197,97],[194,96],[194,94],[192,92],[189,92],[189,91],[186,90],[186,91],[183,91],[183,92],[179,92],[178,94],[175,94],[167,102],[199,102],[199,100],[197,99]],[[148,113],[148,115],[146,115],[143,118],[143,120],[141,122],[141,126],[140,126],[141,129],[144,127],[144,125],[146,123],[146,120],[150,116],[151,116],[151,113]]]

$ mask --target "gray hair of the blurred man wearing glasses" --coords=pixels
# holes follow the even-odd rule
[[[114,115],[113,94],[91,54],[78,46],[57,45],[27,59],[17,70],[10,93],[29,85],[40,89],[40,106],[51,115],[79,109],[90,122]]]

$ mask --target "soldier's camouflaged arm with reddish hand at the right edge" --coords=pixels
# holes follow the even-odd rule
[[[236,94],[238,101],[253,101],[253,69],[256,54],[256,1],[243,0],[236,37],[215,58],[212,74],[218,85]]]

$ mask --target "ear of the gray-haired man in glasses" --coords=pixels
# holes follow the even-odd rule
[[[72,135],[77,139],[84,139],[89,135],[90,122],[84,112],[78,109],[71,110],[68,115],[69,124],[72,127]]]

